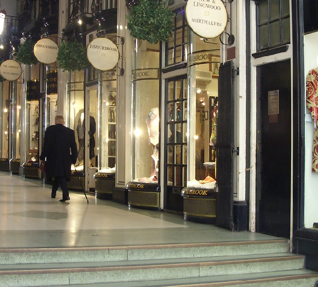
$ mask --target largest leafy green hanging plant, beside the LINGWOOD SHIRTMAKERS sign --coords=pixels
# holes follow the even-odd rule
[[[127,28],[132,37],[150,44],[167,42],[174,29],[174,17],[166,1],[140,0],[130,9]]]

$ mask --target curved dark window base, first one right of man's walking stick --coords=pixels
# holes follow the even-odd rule
[[[95,196],[97,199],[112,199],[112,191],[115,187],[115,173],[96,172]]]

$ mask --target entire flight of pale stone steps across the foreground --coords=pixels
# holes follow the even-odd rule
[[[288,240],[0,249],[0,287],[313,287]]]

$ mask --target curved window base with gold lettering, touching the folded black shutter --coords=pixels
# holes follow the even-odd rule
[[[185,220],[215,223],[216,195],[214,189],[183,188],[183,215]]]

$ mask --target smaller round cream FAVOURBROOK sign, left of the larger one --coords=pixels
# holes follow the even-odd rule
[[[44,64],[56,62],[59,46],[49,38],[43,38],[34,45],[33,52],[37,60]]]

